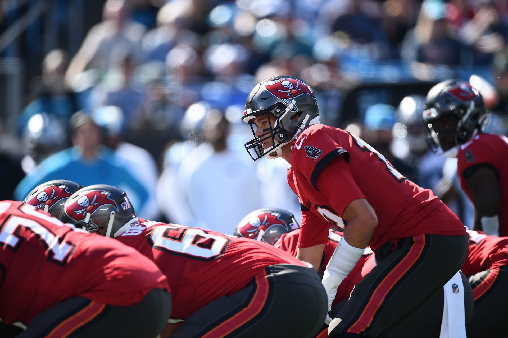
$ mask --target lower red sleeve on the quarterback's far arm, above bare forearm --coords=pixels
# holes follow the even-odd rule
[[[302,224],[300,225],[298,247],[308,248],[328,243],[329,228],[330,224],[324,218],[310,210],[302,210]]]

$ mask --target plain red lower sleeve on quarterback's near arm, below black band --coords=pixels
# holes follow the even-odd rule
[[[342,218],[348,204],[365,198],[353,178],[353,173],[343,158],[336,158],[321,170],[316,180],[316,189],[323,192],[330,206]]]

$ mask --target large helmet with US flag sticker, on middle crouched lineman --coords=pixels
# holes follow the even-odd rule
[[[118,237],[139,223],[127,194],[116,186],[85,186],[65,203],[58,217],[64,223],[107,237]]]

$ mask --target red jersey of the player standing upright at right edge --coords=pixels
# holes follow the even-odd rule
[[[508,203],[508,138],[504,135],[480,134],[462,144],[457,155],[460,185],[473,200],[466,178],[479,167],[490,167],[497,174],[501,189],[501,206]],[[508,208],[499,210],[499,236],[508,236]]]

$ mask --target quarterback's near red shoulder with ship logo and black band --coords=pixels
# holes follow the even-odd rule
[[[341,156],[349,161],[349,153],[322,129],[300,135],[293,145],[293,153],[299,174],[314,187],[320,172],[332,160]]]

